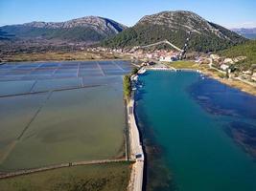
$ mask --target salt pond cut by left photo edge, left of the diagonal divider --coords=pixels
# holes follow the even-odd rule
[[[14,141],[35,116],[46,94],[0,98],[0,165],[8,157]]]

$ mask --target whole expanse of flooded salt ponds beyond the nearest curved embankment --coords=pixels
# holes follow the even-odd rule
[[[75,77],[54,75],[50,68],[61,63],[40,64],[38,75],[0,74],[0,172],[125,156],[122,75],[130,66],[105,61],[105,72],[120,71],[98,76],[90,73],[97,63],[63,64]]]

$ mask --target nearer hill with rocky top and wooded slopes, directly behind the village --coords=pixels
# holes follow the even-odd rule
[[[104,42],[105,46],[146,45],[167,39],[182,48],[192,32],[190,49],[218,51],[245,41],[241,35],[209,22],[191,11],[162,11],[144,16],[128,30]]]

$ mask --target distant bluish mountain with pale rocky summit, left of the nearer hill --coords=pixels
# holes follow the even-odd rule
[[[62,39],[67,41],[98,42],[105,37],[122,32],[127,27],[113,20],[86,16],[66,22],[31,22],[1,27],[2,32],[17,39]]]

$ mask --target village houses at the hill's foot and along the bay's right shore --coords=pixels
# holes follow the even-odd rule
[[[137,50],[132,52],[130,49],[111,49],[105,47],[89,48],[87,52],[92,53],[110,53],[119,54],[120,56],[129,56],[132,60],[142,60],[146,62],[173,62],[178,60],[179,53],[167,50]],[[198,65],[208,65],[210,69],[216,69],[223,76],[236,77],[245,82],[256,82],[256,63],[252,64],[247,70],[238,68],[238,63],[244,61],[246,56],[226,57],[217,53],[190,53],[189,60],[195,61]]]

